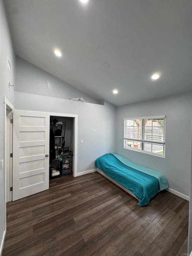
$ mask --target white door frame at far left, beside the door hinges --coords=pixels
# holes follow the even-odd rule
[[[5,223],[5,229],[7,227],[6,223],[6,202],[7,202],[7,186],[10,184],[7,184],[7,109],[13,111],[14,106],[8,101],[6,97],[4,97],[4,183],[5,183],[5,191],[4,191],[4,200],[5,200],[5,205],[4,205],[4,223]],[[12,143],[13,143],[13,136],[12,136]],[[11,166],[12,168],[12,166]]]

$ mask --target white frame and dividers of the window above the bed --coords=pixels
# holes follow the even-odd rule
[[[143,120],[144,119],[164,119],[164,126],[163,126],[163,134],[164,134],[164,140],[162,142],[159,141],[154,141],[154,140],[146,140],[145,138],[143,138],[143,131],[144,131],[144,127],[143,125],[141,126],[141,134],[142,134],[142,138],[141,139],[135,139],[135,138],[129,138],[125,136],[125,131],[126,131],[126,127],[125,127],[125,120],[135,120],[135,119],[142,119],[142,124],[143,124]],[[136,142],[140,142],[142,145],[141,149],[137,149],[137,148],[132,148],[132,147],[128,147],[127,146],[127,140],[129,141],[136,141]],[[163,146],[163,154],[158,154],[155,152],[149,152],[149,151],[145,151],[143,148],[144,143],[149,143],[151,145],[162,145]],[[165,116],[147,116],[147,117],[135,117],[135,118],[124,118],[124,149],[130,149],[130,150],[134,150],[134,151],[138,151],[138,152],[142,152],[142,153],[146,153],[146,154],[150,154],[150,155],[155,155],[155,156],[159,156],[159,157],[163,157],[165,158]]]

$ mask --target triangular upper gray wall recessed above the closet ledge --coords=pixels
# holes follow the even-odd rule
[[[16,91],[55,98],[72,99],[83,97],[86,102],[101,104],[88,94],[47,73],[24,59],[16,57]]]

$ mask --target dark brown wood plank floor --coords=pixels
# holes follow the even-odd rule
[[[162,191],[137,203],[99,173],[52,179],[49,190],[7,203],[2,255],[187,253],[188,201]]]

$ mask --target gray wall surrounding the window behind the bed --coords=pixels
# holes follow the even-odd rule
[[[191,93],[117,107],[117,152],[163,173],[169,188],[189,196]],[[165,158],[123,148],[123,119],[166,115]]]

